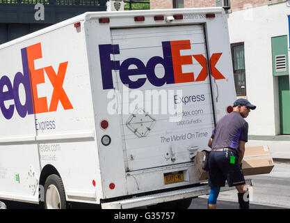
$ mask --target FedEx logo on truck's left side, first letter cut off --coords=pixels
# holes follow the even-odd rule
[[[13,82],[3,75],[0,79],[0,109],[6,119],[10,119],[16,109],[19,116],[24,118],[26,114],[38,114],[43,112],[55,112],[58,102],[61,102],[64,109],[73,109],[67,94],[63,89],[63,81],[67,70],[67,63],[60,63],[57,73],[52,66],[35,69],[34,61],[42,58],[41,44],[37,43],[21,49],[23,72],[17,72]],[[51,102],[48,107],[47,97],[38,97],[38,84],[45,83],[45,73],[54,87]],[[20,102],[19,85],[23,84],[25,91],[25,103]],[[6,86],[6,91],[4,91]],[[9,107],[4,102],[14,100]]]

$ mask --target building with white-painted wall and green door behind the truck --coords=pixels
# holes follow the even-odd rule
[[[151,0],[151,9],[215,7],[223,0]],[[257,105],[252,139],[290,134],[290,1],[231,0],[226,11],[238,97]]]

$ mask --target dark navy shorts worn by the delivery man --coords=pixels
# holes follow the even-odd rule
[[[244,185],[245,178],[239,164],[239,156],[232,151],[214,151],[209,153],[209,186],[224,187],[225,180],[229,187]],[[235,164],[230,163],[230,156],[235,157]]]

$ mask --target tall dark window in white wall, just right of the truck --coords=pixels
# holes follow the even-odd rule
[[[232,66],[234,68],[234,85],[236,95],[245,96],[245,48],[243,43],[232,43]]]

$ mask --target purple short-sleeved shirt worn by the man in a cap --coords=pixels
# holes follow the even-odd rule
[[[238,112],[232,112],[218,121],[211,138],[211,148],[238,150],[239,141],[248,141],[248,123]]]

